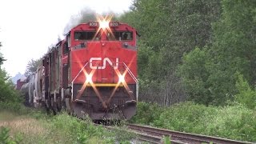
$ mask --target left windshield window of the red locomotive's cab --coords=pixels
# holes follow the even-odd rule
[[[75,41],[85,41],[85,40],[97,40],[98,37],[94,36],[96,31],[75,31],[74,32],[74,40]]]

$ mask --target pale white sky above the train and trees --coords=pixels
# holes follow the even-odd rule
[[[24,74],[27,63],[46,54],[47,47],[57,42],[70,17],[84,7],[97,13],[129,10],[133,0],[1,0],[0,52],[3,68],[10,76]]]

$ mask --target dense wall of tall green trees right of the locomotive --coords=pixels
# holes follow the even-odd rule
[[[256,106],[254,0],[135,0],[120,21],[141,35],[141,100]]]

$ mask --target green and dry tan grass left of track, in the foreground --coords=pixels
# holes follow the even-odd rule
[[[90,118],[79,120],[65,112],[49,116],[39,110],[0,110],[0,127],[0,132],[6,133],[0,134],[0,143],[130,143],[135,138],[134,134],[108,131],[94,126]],[[8,142],[3,141],[6,136]]]

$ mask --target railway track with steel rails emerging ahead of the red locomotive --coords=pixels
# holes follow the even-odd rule
[[[140,126],[134,124],[126,124],[126,126],[130,130],[135,130],[138,133],[150,134],[157,137],[162,137],[163,135],[170,136],[171,141],[175,142],[185,142],[185,143],[210,143],[213,142],[214,144],[253,144],[253,142],[242,142],[236,141],[226,138],[217,138],[212,136],[206,136],[202,134],[191,134],[185,132],[179,132],[174,130],[165,130],[160,128],[155,128],[151,126]]]

